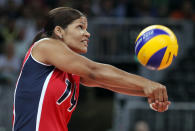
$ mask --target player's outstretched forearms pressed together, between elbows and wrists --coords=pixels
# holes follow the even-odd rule
[[[111,65],[101,64],[97,69],[95,81],[104,87],[124,88],[143,91],[152,81],[138,75],[130,74]]]

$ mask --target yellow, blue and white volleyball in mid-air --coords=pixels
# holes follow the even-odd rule
[[[143,29],[135,41],[138,61],[151,70],[169,67],[178,53],[177,38],[163,25],[151,25]]]

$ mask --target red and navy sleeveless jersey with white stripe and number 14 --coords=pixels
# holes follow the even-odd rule
[[[13,131],[68,131],[80,77],[38,62],[31,55],[32,47],[16,83]]]

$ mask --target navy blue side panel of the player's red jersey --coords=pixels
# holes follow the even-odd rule
[[[14,131],[35,131],[36,117],[43,84],[54,69],[34,61],[29,56],[18,81],[15,93]]]

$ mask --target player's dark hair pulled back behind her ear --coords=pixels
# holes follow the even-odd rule
[[[51,37],[56,26],[66,28],[74,20],[85,15],[70,7],[58,7],[49,11],[45,18],[43,29],[35,36],[33,43],[46,37]]]

